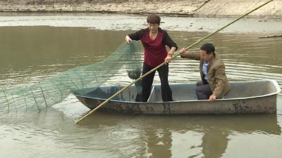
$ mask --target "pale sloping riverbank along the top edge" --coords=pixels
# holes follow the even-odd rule
[[[0,2],[2,12],[159,13],[193,17],[233,17],[264,3],[260,0],[10,0]],[[275,0],[250,14],[255,18],[282,18],[282,1]]]

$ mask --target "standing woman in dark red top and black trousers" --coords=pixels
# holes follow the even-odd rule
[[[161,79],[161,98],[164,102],[173,101],[171,88],[168,84],[168,62],[171,62],[173,53],[177,50],[177,45],[168,36],[168,33],[159,27],[161,18],[157,14],[151,14],[147,17],[147,28],[128,34],[125,41],[129,44],[132,40],[141,40],[145,49],[142,74],[149,72],[162,62],[167,62],[157,69],[159,79]],[[166,51],[166,46],[170,51]],[[142,79],[142,102],[147,102],[151,93],[154,74],[156,71],[148,74]]]

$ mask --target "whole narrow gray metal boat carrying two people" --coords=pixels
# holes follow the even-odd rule
[[[135,86],[131,86],[100,107],[98,111],[131,114],[273,113],[276,112],[277,94],[281,91],[274,80],[234,81],[231,82],[231,91],[224,98],[209,102],[209,100],[197,100],[195,83],[170,84],[170,86],[174,100],[172,102],[162,102],[160,85],[152,86],[147,102],[135,102],[137,91]],[[123,86],[82,88],[74,91],[73,94],[92,110],[121,88]]]

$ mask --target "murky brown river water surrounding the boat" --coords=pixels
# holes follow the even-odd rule
[[[51,73],[103,60],[125,34],[145,27],[145,19],[123,14],[1,13],[0,84],[36,83]],[[164,17],[161,27],[185,47],[231,20]],[[282,20],[243,19],[206,41],[223,57],[231,81],[274,79],[282,87],[282,38],[259,38],[281,34],[281,26]],[[170,83],[199,79],[198,62],[171,62]],[[108,84],[129,82],[121,70]],[[69,96],[40,112],[1,114],[0,157],[281,157],[281,93],[277,99],[276,114],[96,112],[76,125],[73,121],[88,109]]]

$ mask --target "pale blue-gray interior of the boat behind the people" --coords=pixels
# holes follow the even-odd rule
[[[197,100],[195,94],[196,84],[170,84],[174,101],[190,101]],[[87,98],[107,99],[118,92],[124,86],[102,86],[99,88],[84,88],[73,91],[75,96],[83,96]],[[238,81],[231,82],[231,91],[224,96],[223,99],[233,98],[250,98],[264,96],[273,93],[279,93],[280,88],[276,81]],[[137,89],[131,86],[118,96],[113,98],[117,101],[135,102],[137,97]],[[162,102],[161,86],[153,85],[152,91],[147,102]]]

